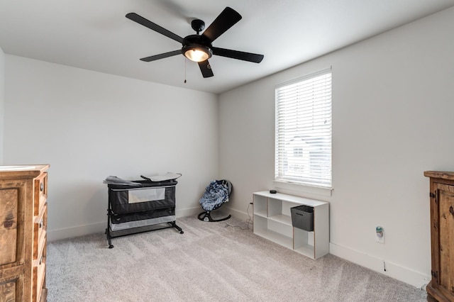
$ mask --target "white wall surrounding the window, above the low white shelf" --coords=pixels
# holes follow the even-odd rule
[[[222,94],[220,174],[235,188],[231,210],[244,214],[253,191],[273,189],[275,84],[332,66],[334,190],[297,194],[330,202],[333,255],[428,283],[423,171],[454,170],[453,32],[451,8]]]

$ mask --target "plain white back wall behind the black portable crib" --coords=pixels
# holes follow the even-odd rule
[[[5,164],[50,164],[48,237],[106,227],[109,175],[179,172],[177,216],[218,176],[218,97],[6,55]]]

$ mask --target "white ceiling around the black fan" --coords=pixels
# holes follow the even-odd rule
[[[211,57],[204,79],[175,40],[125,17],[138,13],[184,37],[226,7],[243,19],[213,45],[265,55],[260,63]],[[221,93],[454,6],[454,0],[0,0],[0,47],[29,57],[188,89]],[[184,79],[187,83],[184,84]]]

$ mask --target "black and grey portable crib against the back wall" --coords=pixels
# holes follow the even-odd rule
[[[144,177],[145,178],[145,177]],[[165,181],[137,180],[130,185],[108,184],[106,237],[109,248],[113,237],[176,228],[175,179]]]

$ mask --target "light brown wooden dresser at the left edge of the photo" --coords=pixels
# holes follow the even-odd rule
[[[0,301],[46,301],[48,164],[0,166]]]

